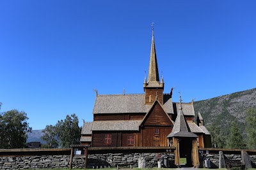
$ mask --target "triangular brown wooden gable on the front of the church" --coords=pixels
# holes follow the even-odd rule
[[[152,125],[173,125],[172,120],[163,110],[161,104],[158,101],[152,105],[152,108],[145,115],[141,125],[152,126]]]

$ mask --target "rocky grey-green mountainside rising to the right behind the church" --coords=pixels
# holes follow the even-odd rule
[[[245,112],[248,108],[256,109],[256,88],[196,101],[194,108],[196,116],[201,113],[205,126],[215,123],[227,135],[230,122],[235,121],[245,136]]]

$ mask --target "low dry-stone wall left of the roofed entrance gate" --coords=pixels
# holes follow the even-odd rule
[[[163,153],[109,153],[88,155],[88,167],[138,167],[138,158],[146,158],[146,167],[157,167],[157,161],[166,156]],[[170,162],[174,162],[174,155],[169,156]],[[0,157],[0,169],[57,169],[68,168],[70,155],[43,155]],[[74,168],[84,167],[84,157],[74,157]]]

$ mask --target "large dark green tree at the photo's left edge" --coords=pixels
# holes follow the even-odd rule
[[[31,127],[24,111],[10,110],[0,116],[0,148],[24,148]]]

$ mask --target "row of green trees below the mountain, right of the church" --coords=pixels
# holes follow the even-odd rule
[[[245,114],[246,134],[243,134],[236,122],[231,122],[230,133],[227,135],[221,131],[221,126],[217,124],[209,125],[211,132],[212,147],[215,148],[236,148],[236,149],[256,149],[256,109],[250,108]],[[246,136],[246,138],[244,138]]]

